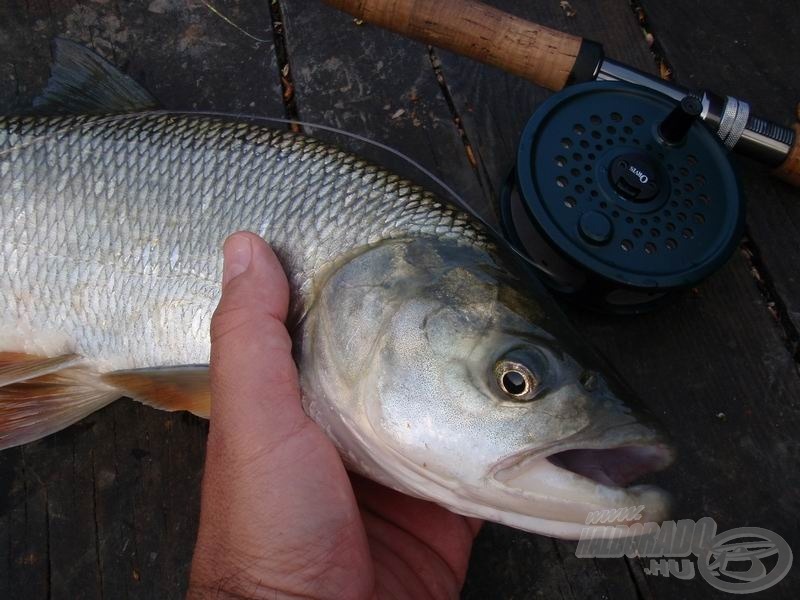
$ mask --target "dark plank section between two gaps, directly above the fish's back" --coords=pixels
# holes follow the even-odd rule
[[[300,117],[390,144],[441,177],[488,216],[425,46],[315,2],[281,2]],[[325,32],[324,43],[318,33]],[[325,132],[315,132],[326,137]],[[424,183],[418,171],[378,148],[333,138]]]

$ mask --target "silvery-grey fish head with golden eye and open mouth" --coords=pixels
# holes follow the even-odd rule
[[[460,514],[563,538],[663,520],[666,493],[627,486],[672,461],[664,434],[507,264],[423,238],[338,267],[305,323],[307,411],[351,468]]]

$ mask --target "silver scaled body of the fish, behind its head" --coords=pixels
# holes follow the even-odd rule
[[[2,245],[27,248],[4,253],[0,314],[66,335],[106,368],[207,362],[219,250],[233,231],[273,244],[294,314],[314,276],[359,246],[483,239],[431,194],[344,152],[212,117],[3,118],[0,174]],[[54,315],[26,294],[79,301]],[[136,324],[146,343],[126,329],[144,314],[156,317]],[[15,328],[0,321],[0,332]]]

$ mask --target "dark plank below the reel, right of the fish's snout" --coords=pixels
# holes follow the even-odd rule
[[[732,298],[738,301],[733,304]],[[736,256],[697,295],[633,320],[573,315],[622,369],[672,433],[677,463],[657,480],[675,495],[674,516],[714,518],[719,531],[772,529],[797,543],[800,385],[781,331]],[[767,466],[770,465],[770,466]],[[794,597],[795,574],[770,590]],[[657,598],[714,595],[699,578],[648,577]]]

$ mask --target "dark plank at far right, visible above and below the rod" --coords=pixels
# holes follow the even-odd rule
[[[678,82],[730,94],[766,118],[790,124],[800,102],[797,57],[800,13],[796,2],[641,2]],[[794,333],[800,329],[800,190],[740,159],[749,201],[748,229]],[[800,359],[798,339],[790,342]]]

